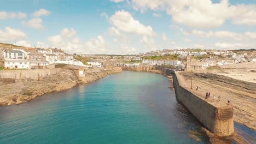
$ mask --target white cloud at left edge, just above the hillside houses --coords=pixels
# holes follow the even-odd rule
[[[3,43],[9,43],[14,40],[22,40],[27,37],[25,32],[19,29],[5,27],[4,31],[0,30],[0,41]]]

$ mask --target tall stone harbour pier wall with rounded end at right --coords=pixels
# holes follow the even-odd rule
[[[176,98],[214,135],[234,134],[233,109],[231,105],[216,107],[184,88],[185,80],[177,71],[166,70],[173,75]]]

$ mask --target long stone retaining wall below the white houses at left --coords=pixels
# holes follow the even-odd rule
[[[0,78],[16,80],[40,80],[48,75],[57,74],[61,68],[56,69],[23,69],[23,70],[0,70]]]

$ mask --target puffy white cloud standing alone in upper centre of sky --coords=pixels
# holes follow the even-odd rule
[[[142,25],[139,21],[135,20],[129,12],[124,10],[116,11],[109,20],[115,27],[126,33],[147,35],[150,37],[155,35],[152,27]]]

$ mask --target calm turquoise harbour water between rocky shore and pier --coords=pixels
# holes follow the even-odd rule
[[[189,137],[201,125],[170,84],[162,75],[124,71],[0,107],[0,143],[208,143]]]

